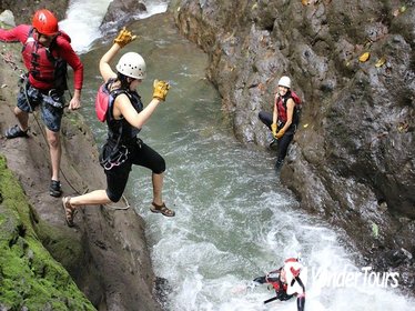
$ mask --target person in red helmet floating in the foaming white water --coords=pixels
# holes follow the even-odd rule
[[[289,258],[280,269],[271,271],[264,277],[255,278],[254,282],[260,284],[269,283],[275,290],[275,297],[265,300],[264,303],[274,300],[286,301],[296,297],[297,311],[304,311],[305,285],[301,279],[303,268],[297,259]]]

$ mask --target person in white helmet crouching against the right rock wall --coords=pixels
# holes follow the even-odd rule
[[[259,113],[260,120],[272,131],[273,141],[270,147],[277,147],[276,171],[280,171],[283,164],[298,126],[300,103],[300,98],[291,90],[291,79],[283,76],[279,81],[273,113],[266,111]]]

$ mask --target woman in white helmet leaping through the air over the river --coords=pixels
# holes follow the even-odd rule
[[[117,72],[110,66],[117,53],[134,39],[135,36],[130,31],[121,30],[112,47],[100,60],[99,68],[104,84],[98,92],[95,107],[99,108],[97,113],[103,111],[103,119],[108,126],[108,139],[100,154],[100,163],[107,175],[107,190],[95,190],[72,198],[64,197],[62,204],[69,227],[74,225],[73,217],[79,207],[118,202],[122,198],[133,164],[152,171],[151,211],[165,217],[175,214],[162,199],[165,161],[136,137],[159,104],[165,100],[170,86],[164,81],[155,80],[153,99],[143,108],[136,88],[146,76],[144,59],[139,53],[126,52],[118,61]]]

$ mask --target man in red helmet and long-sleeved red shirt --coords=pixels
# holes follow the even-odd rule
[[[41,118],[45,126],[52,177],[49,194],[62,194],[59,181],[61,162],[60,128],[64,107],[67,66],[73,69],[74,91],[69,102],[70,110],[81,107],[83,64],[71,47],[70,37],[59,30],[54,14],[45,9],[34,13],[32,24],[20,24],[10,30],[0,29],[0,41],[21,42],[22,58],[28,73],[22,77],[14,114],[18,124],[6,131],[6,138],[27,138],[29,113],[40,106]]]

